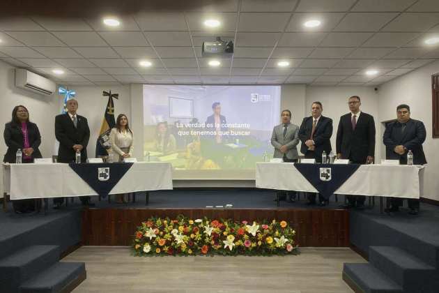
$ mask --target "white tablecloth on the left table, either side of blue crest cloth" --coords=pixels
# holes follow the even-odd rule
[[[170,163],[133,163],[109,194],[172,189]],[[97,195],[68,164],[3,164],[3,191],[10,200]]]

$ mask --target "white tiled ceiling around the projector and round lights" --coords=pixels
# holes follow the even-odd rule
[[[203,20],[222,22],[217,30]],[[438,0],[224,0],[189,11],[100,17],[2,17],[0,59],[66,85],[127,83],[379,85],[439,59]],[[317,29],[303,27],[310,18]],[[201,43],[235,54],[208,67]],[[151,68],[141,68],[148,59]],[[288,68],[277,62],[288,60]],[[61,68],[64,75],[54,75]],[[369,77],[365,70],[378,68]]]

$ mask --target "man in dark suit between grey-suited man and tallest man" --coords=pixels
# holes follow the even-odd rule
[[[314,102],[311,105],[311,116],[305,117],[299,128],[299,138],[302,142],[300,152],[305,158],[314,158],[316,162],[321,163],[322,153],[330,153],[331,135],[332,135],[332,119],[322,116],[323,105],[320,102]],[[316,194],[308,193],[308,204],[316,204]],[[318,202],[321,206],[328,204],[321,195],[318,195]]]

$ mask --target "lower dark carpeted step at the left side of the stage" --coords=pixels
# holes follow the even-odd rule
[[[20,286],[21,293],[70,292],[86,278],[84,262],[57,262]]]

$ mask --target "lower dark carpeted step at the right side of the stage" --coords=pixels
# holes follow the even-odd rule
[[[402,287],[371,264],[344,264],[343,280],[355,292],[402,293]]]

